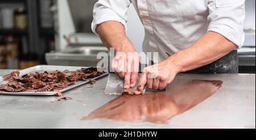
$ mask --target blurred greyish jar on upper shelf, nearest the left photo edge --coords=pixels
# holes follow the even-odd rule
[[[14,28],[14,10],[11,8],[3,8],[2,10],[2,28]]]

